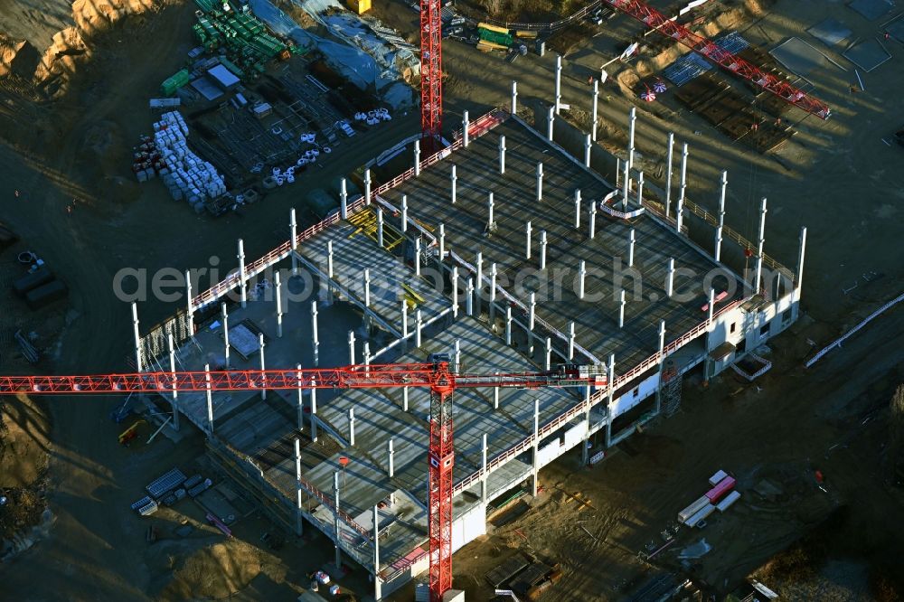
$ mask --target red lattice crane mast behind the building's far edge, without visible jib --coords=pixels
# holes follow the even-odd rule
[[[438,151],[443,126],[442,7],[420,0],[420,129],[427,153]]]

